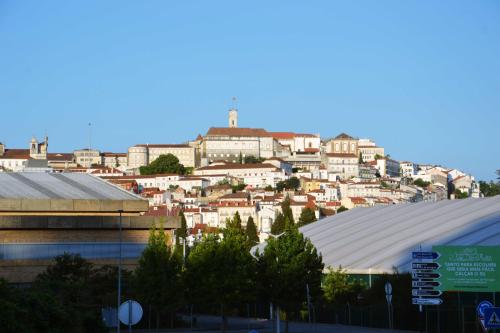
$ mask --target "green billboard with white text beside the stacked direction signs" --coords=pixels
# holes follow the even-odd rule
[[[434,246],[441,291],[500,291],[500,246]]]

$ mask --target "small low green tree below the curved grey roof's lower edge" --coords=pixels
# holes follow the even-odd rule
[[[331,304],[344,305],[347,302],[354,302],[363,289],[365,285],[349,278],[342,267],[336,270],[329,267],[323,279],[323,294],[325,300]]]

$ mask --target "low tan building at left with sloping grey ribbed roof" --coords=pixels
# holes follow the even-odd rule
[[[152,223],[160,223],[160,217],[139,216],[147,200],[88,174],[0,173],[0,277],[31,282],[64,252],[116,264],[120,210],[124,266],[130,269]],[[179,226],[178,218],[164,221],[166,230]]]

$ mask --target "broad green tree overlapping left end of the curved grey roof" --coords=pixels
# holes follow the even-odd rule
[[[294,309],[306,302],[306,286],[314,302],[321,295],[323,270],[321,255],[311,241],[288,223],[285,234],[270,238],[259,255],[258,274],[261,298],[278,305],[288,319]]]

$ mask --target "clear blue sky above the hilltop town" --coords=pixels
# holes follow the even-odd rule
[[[500,169],[500,2],[0,0],[0,141],[124,152],[227,126]]]

